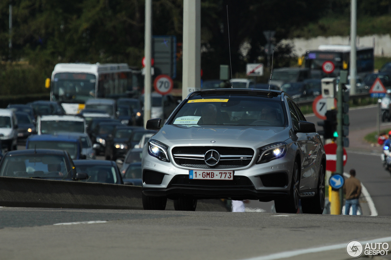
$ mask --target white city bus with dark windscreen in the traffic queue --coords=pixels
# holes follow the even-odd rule
[[[134,93],[140,88],[138,75],[126,63],[59,63],[52,73],[50,100],[61,102],[66,114],[77,114],[90,98]]]

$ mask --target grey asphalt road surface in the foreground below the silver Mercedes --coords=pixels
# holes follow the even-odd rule
[[[365,216],[39,208],[0,215],[1,259],[228,260],[318,248],[289,259],[337,260],[349,259],[350,240],[391,234],[390,218]],[[79,221],[107,222],[54,225]],[[319,249],[335,244],[342,246]]]

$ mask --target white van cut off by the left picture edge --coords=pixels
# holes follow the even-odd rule
[[[18,121],[11,109],[0,109],[0,140],[1,148],[8,151],[18,149]]]

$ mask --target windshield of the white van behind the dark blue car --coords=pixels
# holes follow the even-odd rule
[[[41,133],[42,134],[55,134],[57,132],[76,132],[84,133],[83,121],[63,121],[63,120],[41,120]]]

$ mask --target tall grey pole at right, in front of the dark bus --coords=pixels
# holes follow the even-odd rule
[[[357,78],[357,0],[351,2],[350,12],[350,94],[356,94]]]

